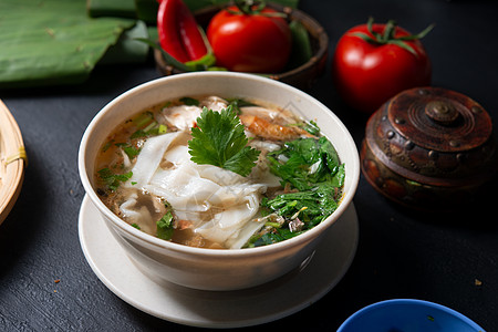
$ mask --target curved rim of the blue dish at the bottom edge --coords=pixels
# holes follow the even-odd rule
[[[395,307],[395,305],[405,305],[405,304],[414,304],[414,305],[421,305],[421,307],[428,307],[428,308],[433,308],[439,311],[443,311],[445,313],[448,313],[450,315],[453,315],[454,318],[456,318],[457,320],[463,321],[465,324],[469,325],[471,329],[476,329],[476,331],[478,332],[485,332],[485,330],[479,326],[476,322],[474,322],[471,319],[469,319],[468,317],[464,315],[463,313],[445,307],[443,304],[439,303],[435,303],[435,302],[430,302],[427,300],[419,300],[419,299],[391,299],[391,300],[384,300],[384,301],[380,301],[380,302],[375,302],[372,304],[369,304],[362,309],[360,309],[359,311],[356,311],[355,313],[353,313],[352,315],[350,315],[342,324],[341,326],[339,326],[338,332],[343,332],[344,329],[347,328],[347,325],[350,325],[353,321],[355,321],[356,319],[359,319],[361,315],[376,310],[378,308],[385,308],[385,307]]]

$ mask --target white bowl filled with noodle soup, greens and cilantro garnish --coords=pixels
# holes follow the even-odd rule
[[[355,144],[308,94],[201,72],[108,103],[81,142],[86,195],[149,278],[255,287],[298,268],[356,190]]]

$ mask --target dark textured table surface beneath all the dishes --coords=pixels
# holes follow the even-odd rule
[[[413,32],[436,23],[423,40],[433,62],[433,85],[470,96],[498,122],[498,2],[302,0],[300,8],[324,25],[331,53],[340,35],[369,15],[396,19]],[[338,114],[360,144],[366,118],[341,103],[329,71],[310,94]],[[148,315],[111,292],[91,270],[77,235],[84,197],[76,166],[82,134],[106,103],[156,77],[153,63],[102,66],[79,86],[0,92],[29,156],[19,200],[0,226],[1,331],[194,329]],[[496,200],[496,193],[490,195]],[[393,298],[434,301],[488,332],[498,331],[496,206],[419,214],[387,201],[363,177],[354,205],[360,241],[344,278],[315,303],[260,325],[260,331],[335,331],[356,310]]]

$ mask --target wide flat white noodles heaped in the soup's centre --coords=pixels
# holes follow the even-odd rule
[[[181,135],[188,134],[177,132],[147,139],[126,185],[167,200],[177,218],[190,221],[193,230],[205,239],[241,248],[261,227],[253,219],[267,185],[216,166],[193,163],[188,147],[176,144]],[[121,209],[132,207],[134,199],[129,196]]]

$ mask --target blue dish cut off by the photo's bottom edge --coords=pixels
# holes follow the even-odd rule
[[[351,315],[338,332],[485,332],[461,313],[422,300],[371,304]]]

